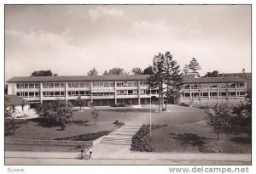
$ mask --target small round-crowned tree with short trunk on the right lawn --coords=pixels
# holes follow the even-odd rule
[[[208,126],[212,126],[213,132],[218,133],[218,140],[220,139],[220,133],[225,128],[230,127],[230,114],[231,108],[227,103],[214,104],[212,110],[206,110],[207,116],[205,121]]]

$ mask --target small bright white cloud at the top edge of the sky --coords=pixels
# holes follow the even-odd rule
[[[97,6],[96,8],[90,8],[88,14],[91,20],[96,21],[101,19],[103,16],[120,17],[124,15],[124,12],[118,8]]]

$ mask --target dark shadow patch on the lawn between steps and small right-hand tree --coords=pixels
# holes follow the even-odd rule
[[[206,138],[201,138],[193,133],[183,133],[183,134],[170,133],[170,135],[172,136],[172,138],[177,139],[182,144],[191,144],[193,146],[203,146],[204,144],[206,144],[204,142],[204,139]]]

